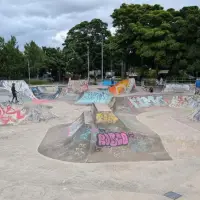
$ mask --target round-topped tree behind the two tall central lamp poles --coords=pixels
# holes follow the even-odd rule
[[[101,68],[101,44],[110,36],[108,25],[100,19],[81,22],[69,30],[63,44],[68,71],[87,72],[87,48],[90,49],[90,69]]]

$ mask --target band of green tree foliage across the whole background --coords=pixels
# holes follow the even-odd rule
[[[51,72],[60,80],[67,72],[87,76],[101,70],[101,47],[104,71],[135,69],[148,78],[168,69],[171,77],[200,76],[200,9],[197,6],[165,10],[160,5],[122,4],[111,15],[116,33],[100,19],[83,21],[72,27],[63,49],[39,47],[34,41],[25,44],[22,53],[15,37],[0,37],[0,77],[22,79]],[[149,69],[152,69],[149,71]],[[123,73],[122,73],[123,75]]]

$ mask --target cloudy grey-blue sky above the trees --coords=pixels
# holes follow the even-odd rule
[[[114,31],[110,15],[122,3],[200,7],[200,0],[0,0],[0,36],[16,36],[20,48],[31,40],[39,46],[61,47],[67,31],[81,21],[100,18]]]

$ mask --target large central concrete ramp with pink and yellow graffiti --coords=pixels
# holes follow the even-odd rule
[[[171,160],[157,134],[130,129],[105,104],[93,104],[74,123],[49,129],[38,151],[78,163]]]

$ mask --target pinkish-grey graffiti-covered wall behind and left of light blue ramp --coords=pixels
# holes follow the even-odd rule
[[[69,80],[66,92],[80,94],[87,90],[88,90],[87,80]]]

